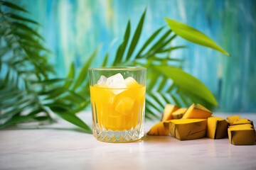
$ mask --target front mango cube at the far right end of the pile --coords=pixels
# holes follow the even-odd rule
[[[254,145],[255,129],[250,124],[230,126],[228,140],[233,145]]]

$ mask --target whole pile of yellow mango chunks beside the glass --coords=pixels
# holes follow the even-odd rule
[[[188,108],[167,104],[161,121],[147,135],[176,137],[178,140],[196,140],[208,137],[213,140],[228,137],[233,145],[255,145],[255,128],[251,120],[230,115],[223,119],[198,103]]]

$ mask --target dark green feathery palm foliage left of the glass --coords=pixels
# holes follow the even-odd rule
[[[5,11],[4,11],[5,10]],[[90,99],[78,93],[87,78],[88,67],[97,50],[85,62],[78,77],[71,64],[68,77],[54,77],[49,64],[50,51],[36,31],[39,24],[16,14],[25,9],[0,1],[0,128],[26,122],[53,122],[53,114],[92,132],[75,113],[82,111]],[[88,80],[87,80],[88,81]]]

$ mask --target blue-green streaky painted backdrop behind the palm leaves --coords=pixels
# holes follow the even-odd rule
[[[147,8],[143,38],[160,26],[164,17],[174,18],[201,30],[218,42],[231,57],[181,38],[188,45],[174,53],[184,57],[184,69],[201,79],[219,102],[218,111],[256,111],[256,1],[254,0],[22,0],[29,17],[41,23],[46,45],[54,52],[50,62],[64,76],[102,45],[97,61],[115,50],[128,19],[132,28]],[[97,63],[95,63],[97,64]]]

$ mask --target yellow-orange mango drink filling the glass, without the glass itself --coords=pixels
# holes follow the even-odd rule
[[[91,101],[94,106],[92,110],[93,113],[97,113],[97,123],[100,128],[119,131],[136,128],[139,119],[142,119],[139,116],[142,116],[146,87],[133,81],[126,89],[90,86]],[[114,94],[114,91],[120,93]]]

